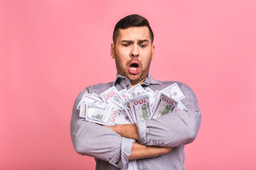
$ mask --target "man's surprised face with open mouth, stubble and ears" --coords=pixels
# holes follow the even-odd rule
[[[115,60],[117,73],[127,77],[132,85],[142,83],[149,74],[150,62],[154,58],[149,28],[142,26],[119,29],[115,44],[111,44],[110,53]]]

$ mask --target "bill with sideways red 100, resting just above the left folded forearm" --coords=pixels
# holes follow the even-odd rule
[[[121,114],[122,108],[118,105],[117,102],[112,101],[105,110],[102,121],[110,125],[117,125],[119,118],[121,118]]]

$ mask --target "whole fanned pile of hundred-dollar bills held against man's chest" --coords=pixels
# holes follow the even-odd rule
[[[85,93],[77,108],[80,117],[88,121],[101,125],[122,125],[186,110],[181,103],[183,98],[185,96],[176,83],[155,92],[149,87],[143,89],[140,84],[122,91],[112,86],[100,96]]]

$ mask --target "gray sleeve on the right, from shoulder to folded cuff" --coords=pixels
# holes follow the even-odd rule
[[[201,125],[201,111],[196,95],[186,84],[180,84],[186,98],[181,102],[186,111],[177,111],[159,118],[135,123],[139,131],[139,142],[159,147],[178,147],[193,142]]]

